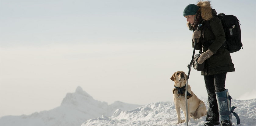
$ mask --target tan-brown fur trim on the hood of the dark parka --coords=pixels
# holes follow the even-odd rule
[[[205,21],[210,20],[213,17],[213,15],[217,14],[215,9],[211,8],[211,2],[210,1],[200,0],[200,1],[197,2],[197,6],[201,7],[201,16],[202,16],[202,19],[205,20]],[[189,27],[189,30],[193,29],[189,22],[187,23],[187,26]]]

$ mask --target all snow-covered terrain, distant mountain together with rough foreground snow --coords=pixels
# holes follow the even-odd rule
[[[206,99],[199,98],[206,103]],[[256,126],[256,99],[232,100],[237,107],[241,126]],[[185,119],[183,113],[181,117]],[[203,126],[206,117],[190,119],[190,126]],[[59,107],[52,110],[35,112],[31,115],[4,116],[1,126],[186,126],[176,125],[174,103],[157,102],[145,106],[116,101],[108,105],[106,102],[94,100],[80,86],[75,93],[67,93]],[[236,119],[233,116],[233,125]]]

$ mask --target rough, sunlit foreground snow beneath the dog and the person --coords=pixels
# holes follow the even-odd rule
[[[204,102],[206,104],[206,101]],[[237,107],[236,112],[241,121],[241,126],[256,126],[256,99],[253,100],[232,100],[232,106]],[[184,114],[181,114],[185,119]],[[203,126],[206,116],[200,119],[190,119],[190,126]],[[133,110],[116,110],[111,117],[90,119],[82,126],[187,126],[186,123],[176,124],[177,116],[174,103],[151,103]],[[236,125],[236,118],[233,116],[232,124]]]

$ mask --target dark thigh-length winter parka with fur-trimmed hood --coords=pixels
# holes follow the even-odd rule
[[[205,52],[210,49],[214,54],[205,60],[204,70],[201,75],[214,75],[223,72],[235,71],[229,51],[224,47],[225,33],[221,24],[221,20],[216,17],[217,12],[211,9],[210,2],[199,1],[197,6],[201,7],[201,16],[203,21],[201,30],[201,37],[199,43],[195,47],[196,50]],[[188,23],[190,30],[195,30],[190,23]],[[192,47],[194,43],[192,41]]]

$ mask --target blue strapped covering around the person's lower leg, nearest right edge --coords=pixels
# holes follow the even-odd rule
[[[219,107],[219,118],[221,126],[232,126],[232,115],[231,115],[231,97],[229,96],[228,89],[222,92],[215,92],[217,103]]]

